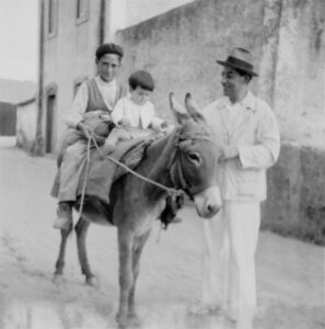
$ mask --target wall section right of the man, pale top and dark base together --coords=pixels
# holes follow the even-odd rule
[[[325,245],[325,2],[282,0],[278,21],[271,101],[285,143],[263,226]]]

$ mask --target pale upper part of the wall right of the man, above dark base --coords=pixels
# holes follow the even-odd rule
[[[325,2],[282,0],[274,107],[282,137],[324,148]]]

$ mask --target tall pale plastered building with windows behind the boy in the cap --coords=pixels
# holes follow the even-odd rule
[[[95,75],[94,53],[125,29],[189,0],[40,0],[36,152],[54,152],[62,116],[80,83]]]

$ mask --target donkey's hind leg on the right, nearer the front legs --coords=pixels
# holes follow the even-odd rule
[[[90,223],[84,220],[82,217],[79,218],[76,225],[78,257],[81,266],[81,272],[85,276],[86,284],[96,286],[98,285],[98,282],[96,276],[92,273],[91,268],[89,265],[86,248],[85,248],[85,237],[86,237],[89,226]]]

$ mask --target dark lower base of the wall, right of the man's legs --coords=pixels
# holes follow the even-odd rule
[[[283,143],[268,171],[263,227],[325,246],[325,152]]]

